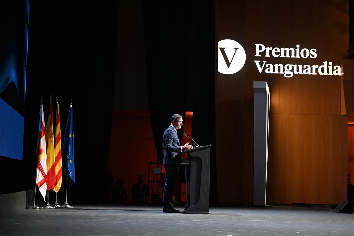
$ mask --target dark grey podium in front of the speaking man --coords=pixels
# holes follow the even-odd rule
[[[210,214],[210,147],[211,145],[206,145],[182,151],[189,154],[190,167],[189,204],[185,206],[184,213]]]

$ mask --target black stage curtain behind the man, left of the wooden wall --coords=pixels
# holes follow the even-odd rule
[[[210,205],[217,200],[214,1],[144,1],[149,110],[158,158],[172,114],[193,110],[193,139],[211,144]],[[183,129],[183,126],[182,126]],[[179,132],[182,140],[182,132]]]

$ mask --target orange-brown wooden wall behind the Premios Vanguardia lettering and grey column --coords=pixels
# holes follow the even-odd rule
[[[250,202],[252,197],[253,81],[267,81],[271,94],[267,202],[344,200],[348,117],[341,116],[341,76],[260,74],[254,60],[341,65],[348,53],[349,1],[219,0],[216,5],[217,39],[238,41],[246,51],[244,69],[216,78],[219,202]],[[318,56],[255,57],[255,43],[299,44],[316,48]],[[229,170],[235,179],[227,192]]]

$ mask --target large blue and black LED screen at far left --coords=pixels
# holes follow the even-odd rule
[[[0,2],[0,156],[22,160],[29,0]]]

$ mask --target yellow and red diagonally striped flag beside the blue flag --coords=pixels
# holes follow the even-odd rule
[[[55,153],[55,186],[53,190],[58,192],[62,186],[62,137],[60,132],[60,112],[59,103],[57,102],[57,119],[55,126],[54,139],[54,153]]]

